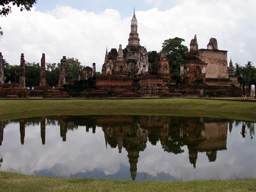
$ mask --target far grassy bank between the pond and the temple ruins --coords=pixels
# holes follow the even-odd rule
[[[207,99],[0,100],[0,120],[47,115],[179,115],[255,121],[256,102]]]

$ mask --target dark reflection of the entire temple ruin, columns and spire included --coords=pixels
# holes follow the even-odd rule
[[[67,140],[68,130],[85,126],[96,132],[96,126],[102,127],[106,147],[124,148],[129,158],[130,173],[133,180],[137,175],[137,163],[140,151],[144,151],[147,142],[156,145],[160,142],[165,152],[183,153],[187,145],[189,162],[196,167],[198,152],[206,152],[209,162],[217,159],[217,151],[226,150],[227,131],[232,131],[232,121],[200,117],[172,116],[48,116],[31,119],[18,119],[20,143],[24,144],[25,127],[40,123],[41,143],[46,143],[46,126],[59,125],[62,141]],[[0,121],[0,145],[3,142],[5,122]],[[253,126],[254,133],[254,126]]]

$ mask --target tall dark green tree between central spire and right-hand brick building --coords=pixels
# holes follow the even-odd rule
[[[164,40],[162,52],[169,60],[170,75],[174,80],[180,79],[180,65],[188,57],[188,48],[182,45],[183,38],[175,37]]]

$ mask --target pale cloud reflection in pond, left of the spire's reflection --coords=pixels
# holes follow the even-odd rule
[[[8,142],[5,144],[9,147],[5,147],[2,152],[5,154],[5,159],[12,159],[12,161],[4,161],[3,167],[11,166],[32,174],[36,170],[50,170],[59,164],[57,167],[61,168],[54,175],[69,176],[79,172],[90,172],[96,168],[104,170],[106,175],[114,174],[118,172],[120,163],[129,165],[127,153],[119,154],[116,149],[110,147],[106,150],[104,134],[100,127],[97,129],[99,130],[97,135],[86,133],[84,127],[79,127],[78,130],[69,132],[67,141],[62,142],[59,136],[59,127],[49,126],[46,128],[47,141],[45,145],[41,145],[38,137],[27,138],[27,133],[30,131],[35,134],[35,130],[37,130],[35,135],[40,134],[40,127],[26,127],[24,145],[20,145],[19,127],[16,125],[15,128],[16,130],[13,129],[13,132],[8,134],[10,137],[17,136],[15,136],[18,139],[14,142],[14,146],[9,145],[12,143],[12,138],[5,137],[5,141]],[[56,135],[59,136],[58,139],[56,139]],[[90,148],[92,144],[94,150]],[[19,162],[24,162],[24,164]]]

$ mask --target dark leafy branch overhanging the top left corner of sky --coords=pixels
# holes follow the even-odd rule
[[[12,12],[9,3],[19,7],[20,11],[30,11],[30,8],[33,7],[33,4],[36,4],[36,1],[37,0],[0,0],[0,6],[2,6],[0,8],[0,15],[6,16]]]

